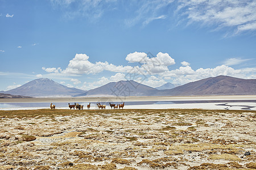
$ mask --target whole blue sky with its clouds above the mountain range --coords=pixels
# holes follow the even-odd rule
[[[0,91],[256,79],[256,1],[0,0]]]

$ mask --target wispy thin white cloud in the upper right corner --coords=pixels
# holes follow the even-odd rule
[[[234,28],[235,32],[256,29],[255,1],[179,1],[177,10],[187,15],[189,22],[192,23],[201,22],[217,29],[230,27]]]

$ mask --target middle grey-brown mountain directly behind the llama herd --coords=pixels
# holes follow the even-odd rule
[[[134,80],[122,80],[105,84],[76,96],[154,96],[157,92],[158,90],[155,88]]]

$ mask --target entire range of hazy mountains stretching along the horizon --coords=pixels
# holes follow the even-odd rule
[[[84,91],[69,88],[51,79],[35,79],[3,94],[32,97],[77,97],[77,96],[205,96],[205,95],[256,95],[256,79],[240,79],[231,76],[216,76],[197,80],[171,89],[152,88],[134,80],[111,82],[104,86]]]

